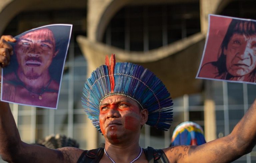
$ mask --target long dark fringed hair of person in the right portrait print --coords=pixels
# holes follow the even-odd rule
[[[224,73],[227,73],[225,80],[229,80],[233,76],[228,73],[226,68],[226,55],[224,55],[224,49],[227,49],[228,43],[233,36],[233,34],[243,34],[245,36],[256,35],[256,22],[255,21],[247,21],[247,20],[237,20],[232,19],[229,24],[226,35],[220,46],[220,56],[217,62],[213,62],[212,65],[218,68],[219,74],[217,77],[222,76]],[[256,69],[250,73],[250,81],[255,81]]]

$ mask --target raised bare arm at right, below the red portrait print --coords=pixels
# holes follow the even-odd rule
[[[252,151],[256,144],[256,100],[233,131],[200,146],[163,149],[170,162],[231,162]]]

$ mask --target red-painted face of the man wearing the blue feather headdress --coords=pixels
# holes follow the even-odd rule
[[[125,136],[140,133],[141,125],[145,123],[141,119],[139,105],[128,97],[113,95],[101,103],[100,129],[112,143],[118,143]]]

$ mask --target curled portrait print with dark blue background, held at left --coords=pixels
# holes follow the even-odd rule
[[[10,65],[2,69],[1,101],[57,108],[71,30],[54,24],[15,37]]]

